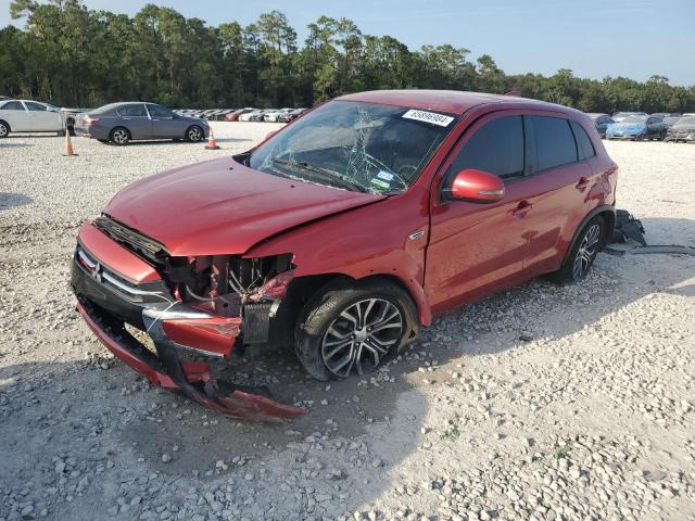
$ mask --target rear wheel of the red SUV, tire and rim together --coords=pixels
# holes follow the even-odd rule
[[[577,241],[563,262],[560,269],[551,274],[551,280],[565,285],[586,278],[606,236],[606,223],[601,215],[591,219],[577,236]]]

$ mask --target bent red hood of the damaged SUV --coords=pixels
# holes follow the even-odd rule
[[[136,181],[104,213],[174,256],[220,255],[244,253],[289,228],[382,199],[264,174],[223,157]]]

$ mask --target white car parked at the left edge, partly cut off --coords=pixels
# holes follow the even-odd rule
[[[63,116],[53,105],[30,100],[0,101],[0,138],[10,132],[64,132]]]

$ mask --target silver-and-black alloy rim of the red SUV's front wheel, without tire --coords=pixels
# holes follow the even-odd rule
[[[391,302],[366,298],[334,319],[321,341],[321,358],[334,376],[364,374],[379,366],[403,334],[403,316]]]

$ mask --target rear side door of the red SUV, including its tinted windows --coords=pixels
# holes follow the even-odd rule
[[[595,152],[581,125],[560,114],[535,112],[525,116],[525,123],[532,142],[530,177],[535,193],[529,200],[533,209],[528,216],[529,249],[523,265],[538,275],[559,267],[567,238],[571,240],[590,211],[595,179],[587,160]],[[574,132],[580,131],[578,144]]]

